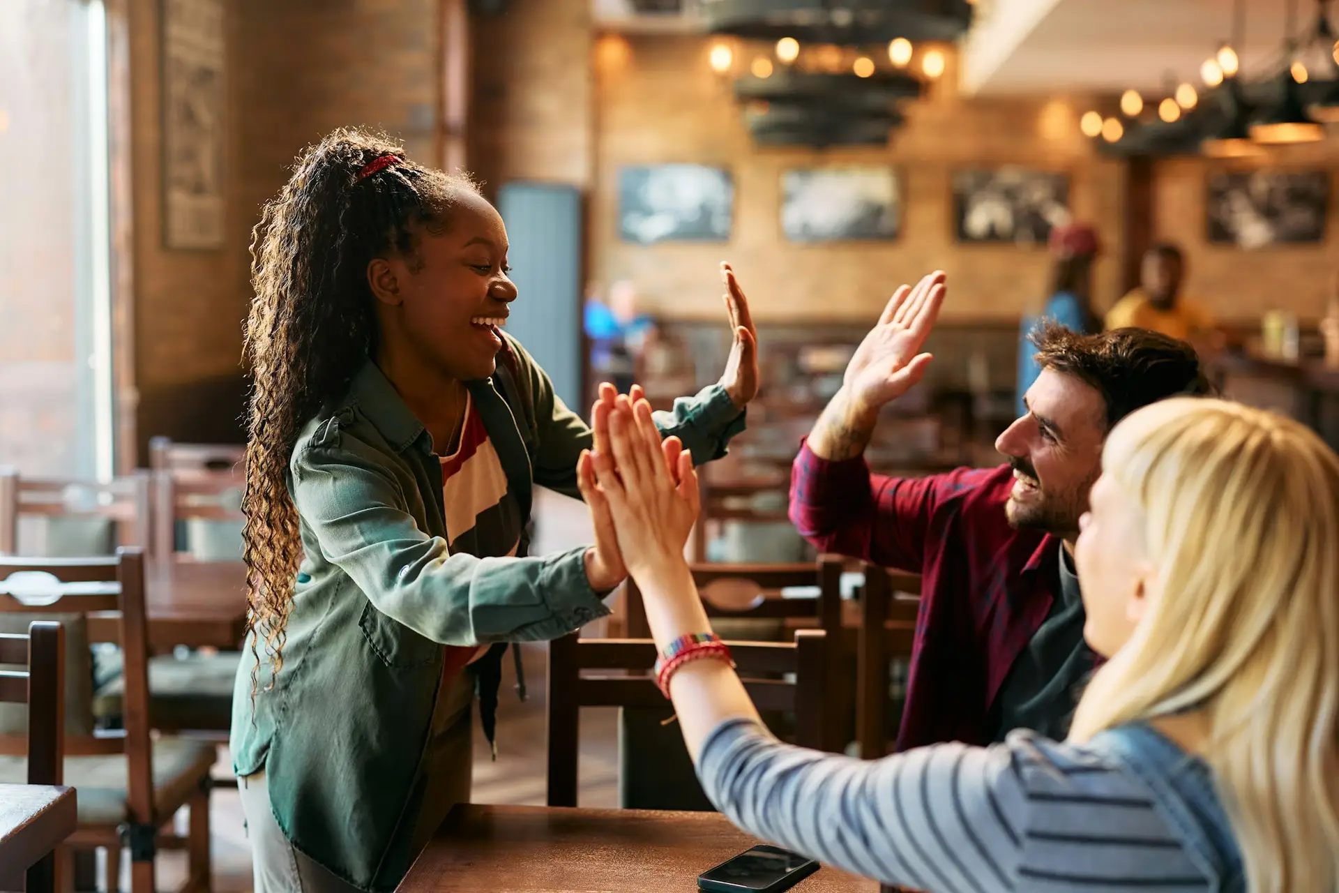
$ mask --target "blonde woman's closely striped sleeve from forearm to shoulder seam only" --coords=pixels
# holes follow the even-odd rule
[[[732,720],[708,736],[698,774],[732,822],[828,865],[923,890],[1014,889],[1023,791],[1003,748],[865,762]]]

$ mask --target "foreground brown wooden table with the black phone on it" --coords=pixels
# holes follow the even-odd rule
[[[761,842],[719,813],[463,805],[398,889],[696,890],[699,874]],[[878,884],[823,866],[791,889],[874,893]]]

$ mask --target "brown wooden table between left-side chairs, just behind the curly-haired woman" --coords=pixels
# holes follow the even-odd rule
[[[246,635],[246,565],[241,561],[174,561],[145,568],[149,647],[236,649]],[[118,641],[116,615],[88,615],[92,641]]]

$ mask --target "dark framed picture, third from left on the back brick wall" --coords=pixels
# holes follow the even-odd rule
[[[1044,245],[1070,221],[1067,174],[1026,167],[953,171],[957,241]]]

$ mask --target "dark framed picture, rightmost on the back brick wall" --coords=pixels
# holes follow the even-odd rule
[[[1330,174],[1323,170],[1210,174],[1209,242],[1240,248],[1323,242],[1328,206]]]

